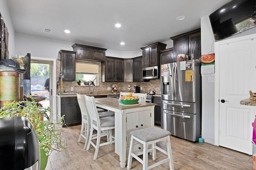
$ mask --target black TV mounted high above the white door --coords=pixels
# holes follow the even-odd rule
[[[215,41],[256,26],[256,0],[231,0],[209,15]]]

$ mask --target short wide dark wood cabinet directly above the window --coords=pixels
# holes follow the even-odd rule
[[[83,45],[74,43],[72,45],[73,51],[76,51],[77,59],[93,59],[99,61],[105,61],[106,50],[105,48],[93,47],[89,45]]]

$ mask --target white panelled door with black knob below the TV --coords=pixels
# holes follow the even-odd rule
[[[227,43],[226,43],[227,42]],[[256,92],[256,37],[217,46],[219,49],[219,145],[252,154],[255,106],[240,105]]]

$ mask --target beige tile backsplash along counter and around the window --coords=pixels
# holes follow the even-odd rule
[[[99,65],[99,80],[101,80],[101,63],[98,61],[87,61],[87,60],[77,60],[79,63],[91,63],[91,64],[98,64]],[[56,61],[56,79],[58,79],[60,74],[60,60]],[[64,75],[65,76],[65,75]],[[150,89],[155,89],[156,94],[160,94],[161,89],[161,82],[160,79],[152,79],[149,82],[99,82],[98,86],[95,86],[95,89],[91,87],[92,94],[104,94],[104,93],[112,93],[112,85],[116,83],[118,85],[118,93],[127,92],[128,85],[131,86],[131,91],[135,92],[134,85],[142,87],[141,93],[144,93],[144,88],[147,88],[147,93],[149,93]],[[71,91],[71,87],[74,88],[74,91]],[[110,87],[110,90],[108,90]],[[76,92],[80,94],[89,94],[89,86],[87,87],[80,87],[77,85],[76,81],[63,81],[63,90]],[[57,94],[59,90],[57,89]]]

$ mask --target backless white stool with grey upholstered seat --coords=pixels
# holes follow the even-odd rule
[[[130,170],[132,165],[132,157],[138,160],[142,164],[143,170],[148,170],[154,168],[165,162],[169,162],[170,170],[174,170],[173,160],[172,160],[172,148],[170,142],[170,132],[158,127],[149,127],[140,130],[134,130],[130,133],[131,143],[128,155],[127,169]],[[134,140],[137,140],[143,144],[143,152],[133,153]],[[166,150],[156,146],[156,142],[166,141]],[[151,149],[148,149],[148,145],[152,144]],[[148,166],[148,152],[152,152],[153,160],[156,160],[156,149],[168,155],[168,158],[160,160],[150,166]],[[138,157],[138,155],[143,154],[143,160]]]

